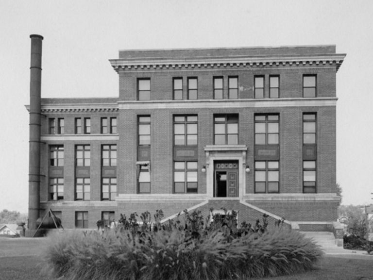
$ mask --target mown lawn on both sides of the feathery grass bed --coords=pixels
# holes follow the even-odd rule
[[[0,280],[51,280],[40,275],[44,238],[0,238]],[[373,280],[373,256],[326,256],[313,271],[261,280]]]

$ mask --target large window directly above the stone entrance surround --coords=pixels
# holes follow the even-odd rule
[[[238,144],[238,115],[214,115],[214,144]]]

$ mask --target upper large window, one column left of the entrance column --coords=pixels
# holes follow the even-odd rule
[[[197,145],[197,131],[196,115],[175,115],[173,117],[174,145]]]

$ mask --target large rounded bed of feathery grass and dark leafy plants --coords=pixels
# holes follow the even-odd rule
[[[183,213],[161,223],[162,211],[129,218],[115,230],[55,233],[45,271],[65,280],[225,280],[278,276],[312,269],[322,251],[296,231],[267,231],[267,216],[237,229],[236,213],[204,219]],[[101,231],[100,231],[101,232]]]

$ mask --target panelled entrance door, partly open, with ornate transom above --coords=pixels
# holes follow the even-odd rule
[[[214,197],[238,197],[238,163],[216,162],[214,168]]]

